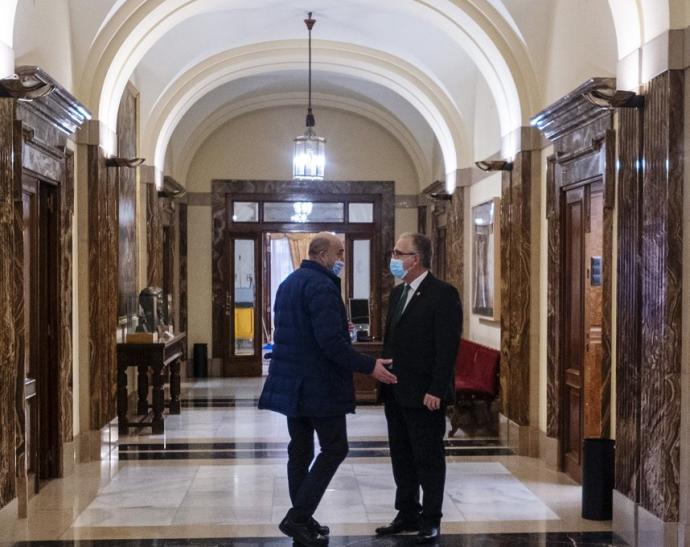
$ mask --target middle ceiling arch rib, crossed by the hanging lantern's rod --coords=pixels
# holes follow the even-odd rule
[[[460,157],[471,159],[467,132],[449,97],[423,72],[402,59],[349,44],[316,42],[314,69],[382,85],[400,95],[426,120],[439,142],[446,173]],[[286,40],[224,52],[192,67],[171,83],[153,107],[143,135],[143,153],[162,167],[170,137],[182,116],[202,97],[240,78],[304,66],[300,41]]]

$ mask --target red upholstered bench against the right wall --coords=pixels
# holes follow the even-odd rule
[[[455,361],[455,405],[449,407],[452,437],[462,427],[468,433],[484,426],[497,433],[496,416],[492,416],[491,404],[498,397],[498,371],[501,353],[476,342],[462,339]],[[485,407],[480,416],[478,406]],[[469,420],[467,419],[469,418]]]

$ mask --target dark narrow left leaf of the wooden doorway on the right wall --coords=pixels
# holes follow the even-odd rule
[[[585,191],[564,192],[563,225],[563,374],[561,378],[561,465],[581,479],[583,439],[583,353],[585,277]]]

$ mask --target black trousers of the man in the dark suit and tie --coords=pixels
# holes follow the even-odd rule
[[[421,512],[422,522],[438,525],[443,513],[446,457],[444,409],[400,406],[388,399],[385,404],[388,442],[395,479],[395,508],[405,517]],[[424,497],[419,503],[419,489]]]

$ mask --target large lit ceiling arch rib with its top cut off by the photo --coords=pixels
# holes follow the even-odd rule
[[[242,5],[239,0],[132,0],[125,3],[123,13],[115,14],[95,40],[84,73],[84,85],[91,91],[90,106],[98,112],[99,119],[113,125],[117,99],[127,80],[146,51],[168,30],[194,15],[227,11]],[[524,43],[489,1],[411,0],[404,4],[396,2],[395,9],[413,11],[415,17],[423,15],[473,58],[494,95],[502,133],[520,126],[529,117],[532,103],[536,104],[532,97],[536,85]],[[489,16],[495,17],[498,26]],[[507,41],[506,36],[512,38]],[[91,75],[93,77],[89,78]]]

